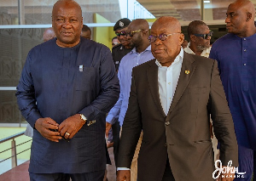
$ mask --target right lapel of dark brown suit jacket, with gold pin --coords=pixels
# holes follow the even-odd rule
[[[196,64],[197,63],[196,63],[195,59],[190,54],[187,54],[184,52],[183,65],[182,65],[180,75],[178,78],[177,88],[175,90],[175,93],[174,93],[174,96],[172,99],[172,104],[168,111],[168,116],[170,115],[170,113],[172,112],[174,107],[177,105],[177,102],[179,101],[179,99],[183,95],[185,89],[189,85],[189,81],[190,81],[191,77],[193,76]]]

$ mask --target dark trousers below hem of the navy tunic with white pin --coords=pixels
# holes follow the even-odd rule
[[[93,173],[29,173],[30,181],[102,181],[105,170]]]

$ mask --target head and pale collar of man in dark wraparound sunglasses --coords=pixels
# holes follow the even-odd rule
[[[204,57],[209,57],[211,51],[210,40],[212,31],[206,23],[201,20],[194,20],[189,23],[188,35],[189,44],[184,51],[189,54],[198,54]]]

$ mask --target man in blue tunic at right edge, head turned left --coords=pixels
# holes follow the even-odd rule
[[[256,27],[251,1],[230,3],[225,19],[228,34],[212,44],[210,58],[218,61],[234,120],[239,154],[239,172],[256,180]],[[253,163],[254,162],[254,163]],[[254,176],[253,176],[254,175]]]

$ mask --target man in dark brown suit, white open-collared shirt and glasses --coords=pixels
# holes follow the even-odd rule
[[[232,161],[238,166],[236,135],[218,64],[183,52],[183,38],[177,19],[160,17],[148,37],[155,59],[132,71],[118,167],[131,167],[143,130],[139,181],[213,180],[210,114],[222,165]],[[221,173],[222,180],[234,179],[233,173]],[[130,181],[130,171],[119,170],[117,180]]]

